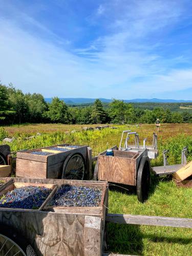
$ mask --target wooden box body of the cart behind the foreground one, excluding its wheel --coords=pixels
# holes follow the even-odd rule
[[[61,144],[59,146],[68,146]],[[58,145],[55,145],[58,146]],[[71,153],[80,153],[87,162],[88,146],[79,146],[66,152],[52,152],[51,147],[38,148],[25,152],[17,152],[16,155],[16,176],[24,178],[57,179],[61,178],[63,162]],[[48,156],[30,154],[34,151],[51,151]],[[87,170],[88,172],[89,170]]]

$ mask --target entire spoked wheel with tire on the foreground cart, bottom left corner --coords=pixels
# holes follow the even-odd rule
[[[0,255],[36,256],[27,240],[5,225],[0,230]]]

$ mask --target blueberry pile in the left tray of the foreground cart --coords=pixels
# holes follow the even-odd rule
[[[0,198],[0,207],[38,209],[51,191],[51,188],[32,185],[14,188]]]

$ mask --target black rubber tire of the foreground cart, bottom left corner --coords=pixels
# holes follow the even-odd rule
[[[2,225],[0,223],[0,235],[6,236],[17,244],[27,256],[36,256],[36,253],[30,243],[25,239],[22,234],[16,232],[13,228]]]

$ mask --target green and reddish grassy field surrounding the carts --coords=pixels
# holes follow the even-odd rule
[[[62,142],[89,144],[96,155],[106,148],[119,144],[121,132],[130,129],[137,131],[140,141],[147,137],[152,143],[154,124],[114,125],[117,129],[101,131],[82,131],[82,126],[63,124],[36,124],[5,127],[15,140],[10,143],[11,150],[49,146]],[[93,125],[92,125],[93,126]],[[66,133],[76,130],[75,133]],[[162,151],[169,150],[169,164],[180,163],[181,150],[188,146],[187,160],[192,160],[192,124],[162,124],[158,134],[160,155],[152,165],[162,165]],[[31,140],[26,136],[41,133]],[[192,189],[177,188],[172,179],[152,176],[150,197],[144,204],[137,201],[133,190],[115,188],[110,185],[109,212],[192,218]],[[192,231],[184,228],[151,227],[136,225],[109,225],[109,251],[135,255],[191,255]]]

